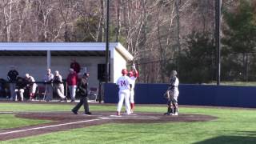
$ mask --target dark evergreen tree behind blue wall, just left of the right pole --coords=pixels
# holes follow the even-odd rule
[[[178,58],[182,82],[202,83],[214,80],[214,41],[207,32],[193,32],[186,41],[187,49]]]

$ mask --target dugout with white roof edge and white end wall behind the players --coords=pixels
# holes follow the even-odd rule
[[[109,50],[110,82],[115,82],[133,56],[119,42],[110,42]],[[90,87],[98,87],[98,82],[104,80],[105,51],[105,42],[2,42],[0,78],[6,79],[10,66],[15,66],[20,76],[29,73],[38,82],[48,67],[66,79],[71,59],[75,58],[82,72],[90,73]]]

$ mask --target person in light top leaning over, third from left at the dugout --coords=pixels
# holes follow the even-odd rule
[[[35,90],[37,89],[37,84],[35,83],[34,78],[30,74],[26,75],[26,82],[28,82],[28,87],[30,90],[30,101],[34,101],[35,98]]]

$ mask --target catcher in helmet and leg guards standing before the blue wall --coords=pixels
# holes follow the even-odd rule
[[[178,83],[177,71],[172,70],[170,73],[170,84],[164,94],[164,97],[168,100],[168,109],[165,115],[178,115]]]

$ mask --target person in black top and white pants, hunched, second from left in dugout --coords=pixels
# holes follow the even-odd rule
[[[16,89],[14,90],[16,92],[14,96],[14,101],[18,101],[18,96],[20,101],[24,100],[23,94],[26,89],[26,84],[27,82],[25,78],[22,78],[22,77],[17,78],[17,85],[16,85]]]

